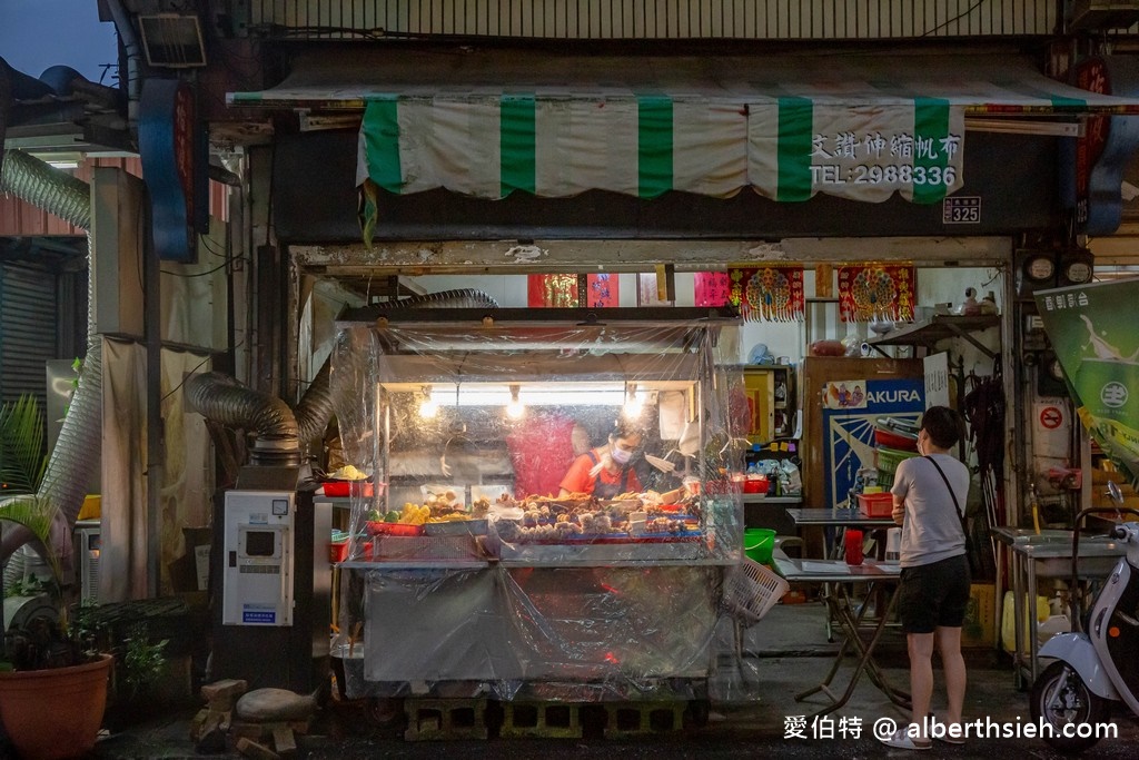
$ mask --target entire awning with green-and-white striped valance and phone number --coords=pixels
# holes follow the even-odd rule
[[[968,55],[547,56],[300,60],[233,106],[362,109],[358,182],[482,198],[591,189],[934,203],[959,189],[966,119],[1139,114],[1139,99]]]

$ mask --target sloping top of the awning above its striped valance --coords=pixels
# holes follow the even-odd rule
[[[966,114],[1139,114],[1139,98],[1096,95],[1041,74],[1015,55],[844,54],[583,56],[521,50],[301,55],[280,85],[230,92],[235,106],[363,108],[375,98],[457,100],[528,93],[604,100],[667,95],[675,101],[763,104],[803,97],[827,105],[948,100]]]

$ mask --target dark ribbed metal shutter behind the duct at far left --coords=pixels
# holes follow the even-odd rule
[[[0,264],[0,400],[32,393],[47,409],[46,363],[56,358],[56,275]]]

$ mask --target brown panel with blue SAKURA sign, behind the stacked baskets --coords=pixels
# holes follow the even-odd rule
[[[874,428],[878,418],[916,422],[921,417],[923,362],[809,357],[801,378],[803,506],[845,507],[859,471],[877,468]]]

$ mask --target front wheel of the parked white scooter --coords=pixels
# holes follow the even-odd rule
[[[1029,700],[1032,719],[1055,729],[1052,736],[1041,736],[1050,746],[1060,752],[1082,752],[1099,741],[1098,736],[1063,736],[1066,725],[1088,725],[1092,732],[1096,724],[1105,724],[1111,713],[1111,704],[1101,696],[1092,694],[1080,673],[1064,661],[1056,661],[1044,668],[1032,685]]]

